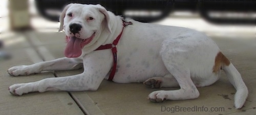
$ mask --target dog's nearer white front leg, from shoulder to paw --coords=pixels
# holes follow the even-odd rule
[[[9,91],[13,95],[21,96],[34,91],[97,90],[101,81],[110,71],[113,63],[110,52],[98,52],[102,51],[96,51],[96,53],[84,56],[84,72],[82,74],[68,77],[47,78],[31,83],[14,84],[9,87]]]

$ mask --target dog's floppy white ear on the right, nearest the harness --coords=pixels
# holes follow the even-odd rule
[[[106,9],[104,7],[102,7],[101,5],[99,5],[99,4],[96,5],[96,8],[101,13],[104,14],[104,16],[105,16],[105,19],[104,19],[105,27],[106,27],[106,29],[109,30],[110,33],[112,33],[111,28],[110,28],[110,15],[109,15],[108,11],[106,11]]]

